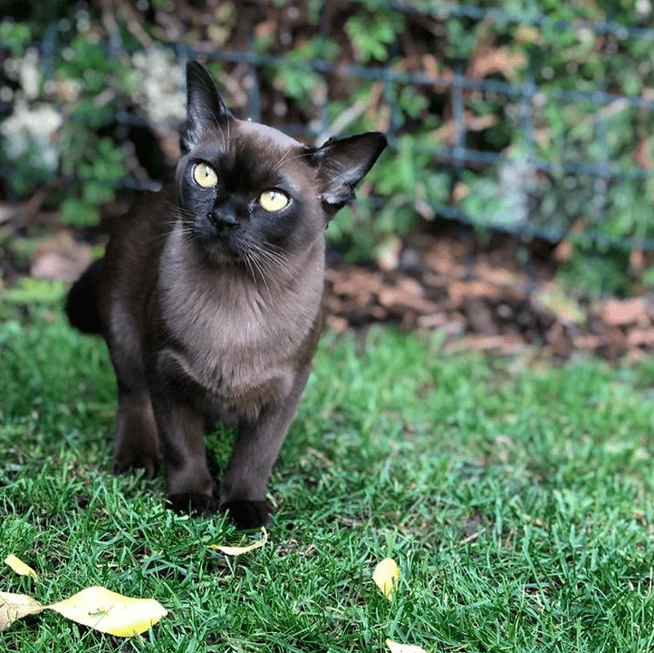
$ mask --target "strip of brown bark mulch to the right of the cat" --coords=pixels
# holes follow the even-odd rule
[[[471,252],[451,237],[423,238],[380,265],[327,270],[327,322],[343,332],[394,322],[440,329],[450,350],[511,355],[537,347],[567,359],[587,351],[611,361],[654,353],[654,297],[577,299],[555,280],[551,257],[527,274],[504,239]]]

